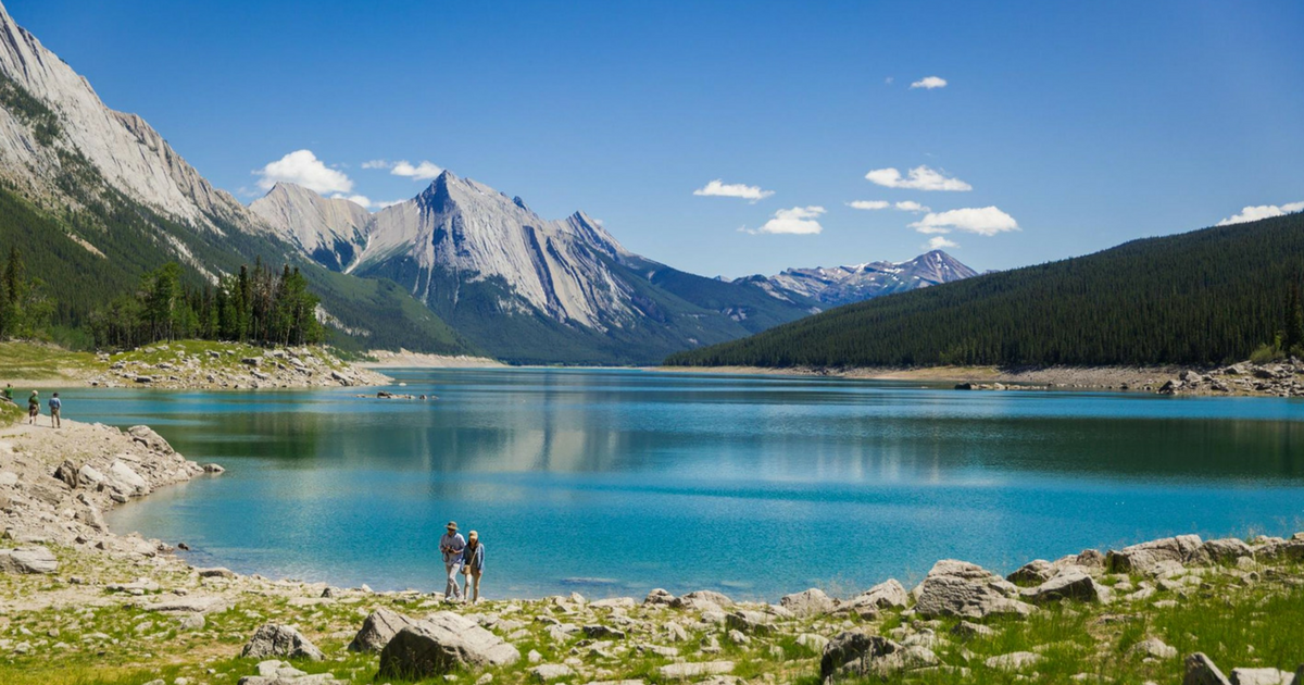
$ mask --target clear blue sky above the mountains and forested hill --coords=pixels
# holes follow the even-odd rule
[[[1297,1],[7,7],[243,201],[297,150],[273,171],[377,204],[425,160],[707,275],[1007,269],[1304,201]]]

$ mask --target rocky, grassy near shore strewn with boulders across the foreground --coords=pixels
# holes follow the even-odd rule
[[[108,508],[220,472],[147,427],[0,429],[0,681],[57,682],[18,678],[55,678],[89,654],[154,685],[1304,682],[1304,534],[1183,535],[1005,578],[943,560],[913,588],[889,579],[775,604],[655,590],[471,607],[194,568],[181,543],[104,526]],[[1266,626],[1237,647],[1221,615],[1240,632]]]

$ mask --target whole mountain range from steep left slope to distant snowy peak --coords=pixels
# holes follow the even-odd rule
[[[544,219],[451,172],[374,214],[288,183],[245,206],[143,119],[106,107],[3,5],[0,210],[0,248],[22,249],[70,338],[167,261],[193,284],[257,260],[293,264],[344,347],[570,364],[655,363],[973,273],[930,253],[711,279],[627,251],[582,211]]]

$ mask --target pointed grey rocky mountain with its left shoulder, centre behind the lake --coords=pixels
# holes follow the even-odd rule
[[[408,290],[489,354],[518,363],[644,364],[812,311],[627,251],[583,211],[545,219],[520,197],[441,174],[372,214],[279,184],[252,209],[322,265]],[[353,205],[357,210],[360,206]]]

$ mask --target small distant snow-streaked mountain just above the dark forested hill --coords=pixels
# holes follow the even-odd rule
[[[803,297],[827,309],[975,275],[978,271],[935,249],[904,262],[785,269],[768,278],[756,275],[739,281],[760,287],[775,297]]]

